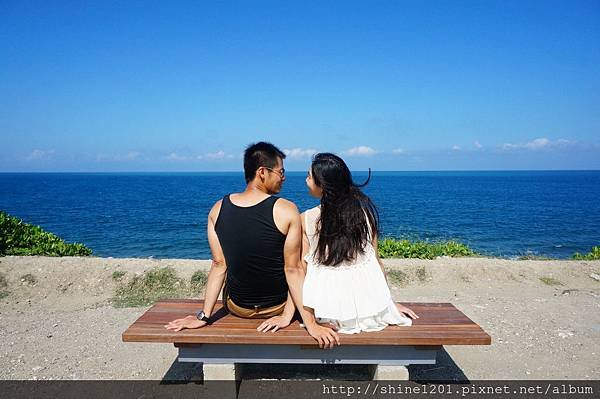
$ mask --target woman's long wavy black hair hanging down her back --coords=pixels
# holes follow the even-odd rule
[[[360,190],[371,179],[371,170],[367,180],[357,185],[342,158],[319,153],[313,157],[311,172],[315,184],[323,189],[316,260],[327,266],[352,261],[364,253],[371,234],[378,232],[377,208]]]

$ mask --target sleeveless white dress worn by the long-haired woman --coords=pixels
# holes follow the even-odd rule
[[[325,266],[316,262],[316,221],[320,207],[304,214],[310,244],[302,297],[304,306],[314,309],[320,323],[333,323],[339,333],[379,331],[389,324],[410,326],[412,320],[398,311],[392,300],[375,249],[369,242],[364,254],[351,263]]]

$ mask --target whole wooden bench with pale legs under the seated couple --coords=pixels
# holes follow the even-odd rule
[[[262,320],[226,314],[217,304],[216,321],[207,327],[173,332],[164,325],[203,308],[199,300],[156,303],[122,335],[124,342],[173,343],[178,361],[203,363],[205,380],[239,380],[239,363],[369,364],[374,378],[407,380],[409,364],[435,364],[443,345],[489,345],[490,336],[450,303],[405,303],[419,319],[411,327],[389,326],[382,331],[340,334],[341,345],[319,349],[294,321],[276,333],[262,333]],[[239,369],[239,368],[238,368]]]

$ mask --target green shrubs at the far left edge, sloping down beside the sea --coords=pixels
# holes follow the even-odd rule
[[[39,226],[0,211],[0,256],[45,255],[87,256],[92,250],[83,244],[70,244]]]

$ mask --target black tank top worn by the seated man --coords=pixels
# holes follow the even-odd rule
[[[215,231],[227,262],[227,289],[241,307],[268,307],[287,299],[283,246],[285,235],[273,220],[278,197],[241,207],[223,197]]]

